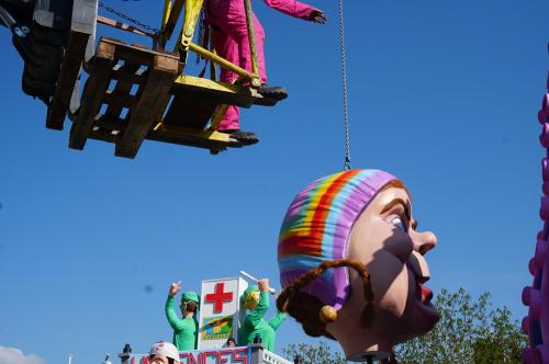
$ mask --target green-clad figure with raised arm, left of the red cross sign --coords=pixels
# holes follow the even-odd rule
[[[165,308],[168,322],[173,329],[173,344],[179,351],[195,350],[199,333],[199,322],[197,320],[195,310],[200,300],[199,295],[193,291],[189,291],[181,297],[181,310],[183,311],[183,318],[180,319],[173,307],[176,297],[175,294],[171,295],[171,292],[172,291],[170,291],[170,295],[168,295],[168,299],[166,299]],[[188,310],[189,303],[195,304],[194,312],[192,312],[192,309]]]

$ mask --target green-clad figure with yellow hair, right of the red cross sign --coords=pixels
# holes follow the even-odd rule
[[[257,302],[259,294],[259,303]],[[261,337],[261,343],[268,351],[274,350],[276,330],[284,321],[285,314],[278,312],[269,321],[264,319],[269,309],[269,292],[259,292],[257,285],[249,286],[240,297],[243,307],[250,309],[244,319],[244,325],[238,331],[238,345],[246,346],[254,342],[257,333]],[[256,306],[257,305],[257,306]],[[254,308],[255,307],[255,308]]]

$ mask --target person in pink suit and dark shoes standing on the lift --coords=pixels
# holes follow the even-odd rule
[[[267,5],[287,15],[313,21],[324,24],[324,13],[305,3],[295,0],[264,0]],[[206,20],[214,27],[213,44],[216,53],[228,61],[251,71],[251,54],[249,49],[248,29],[246,25],[246,11],[244,0],[208,0]],[[267,87],[267,73],[265,70],[264,41],[265,31],[259,20],[254,14],[254,30],[256,33],[257,60],[259,64],[259,76],[262,86],[259,93],[266,98],[277,101],[285,99],[287,92],[283,88]],[[221,81],[234,82],[237,75],[233,71],[222,69]],[[240,130],[238,122],[239,111],[236,106],[228,106],[219,132],[228,133],[243,144],[255,144],[259,139],[254,133]]]

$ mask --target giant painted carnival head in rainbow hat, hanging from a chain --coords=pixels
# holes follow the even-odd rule
[[[290,204],[279,238],[277,306],[349,361],[386,359],[438,320],[411,196],[395,177],[350,170],[316,180]]]

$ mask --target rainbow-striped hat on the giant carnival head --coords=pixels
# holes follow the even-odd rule
[[[380,170],[355,169],[318,179],[293,198],[280,228],[278,263],[282,288],[324,261],[347,258],[350,230],[389,182]],[[339,310],[349,295],[347,268],[324,272],[302,289]]]

